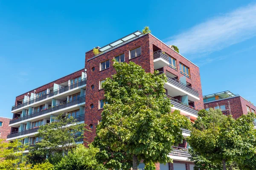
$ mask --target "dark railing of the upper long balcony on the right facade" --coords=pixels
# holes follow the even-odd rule
[[[160,71],[159,72],[160,74],[165,74],[163,71]],[[174,77],[172,76],[169,76],[167,74],[165,74],[166,77],[167,77],[167,82],[171,83],[172,85],[175,85],[181,89],[183,89],[184,91],[190,93],[190,94],[193,94],[197,97],[199,97],[199,93],[197,90],[195,90],[194,88],[184,84],[183,82],[180,82],[179,80],[175,79]]]

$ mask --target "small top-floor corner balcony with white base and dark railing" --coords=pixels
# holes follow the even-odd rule
[[[154,69],[165,67],[169,65],[169,56],[166,55],[163,51],[158,50],[154,52]]]

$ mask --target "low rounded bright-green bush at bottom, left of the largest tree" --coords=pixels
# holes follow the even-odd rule
[[[79,144],[55,165],[55,170],[105,170],[95,158],[98,152],[99,149],[92,145],[87,148]]]

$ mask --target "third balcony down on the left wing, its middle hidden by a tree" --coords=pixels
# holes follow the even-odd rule
[[[75,122],[82,122],[82,121],[84,121],[84,114],[76,116],[76,117],[74,117],[74,119],[75,119]],[[17,137],[17,136],[22,136],[22,135],[28,135],[28,134],[31,134],[31,133],[35,133],[35,132],[38,131],[38,129],[39,129],[39,126],[38,127],[32,127],[32,128],[29,128],[29,129],[26,129],[26,130],[23,130],[23,131],[12,132],[12,133],[9,133],[7,135],[7,139],[14,138],[14,137]]]

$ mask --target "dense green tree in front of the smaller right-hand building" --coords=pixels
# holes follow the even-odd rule
[[[202,110],[187,141],[195,151],[195,157],[202,156],[211,165],[221,164],[223,170],[227,167],[234,169],[236,164],[244,164],[256,153],[254,119],[253,113],[233,119],[218,109]]]

